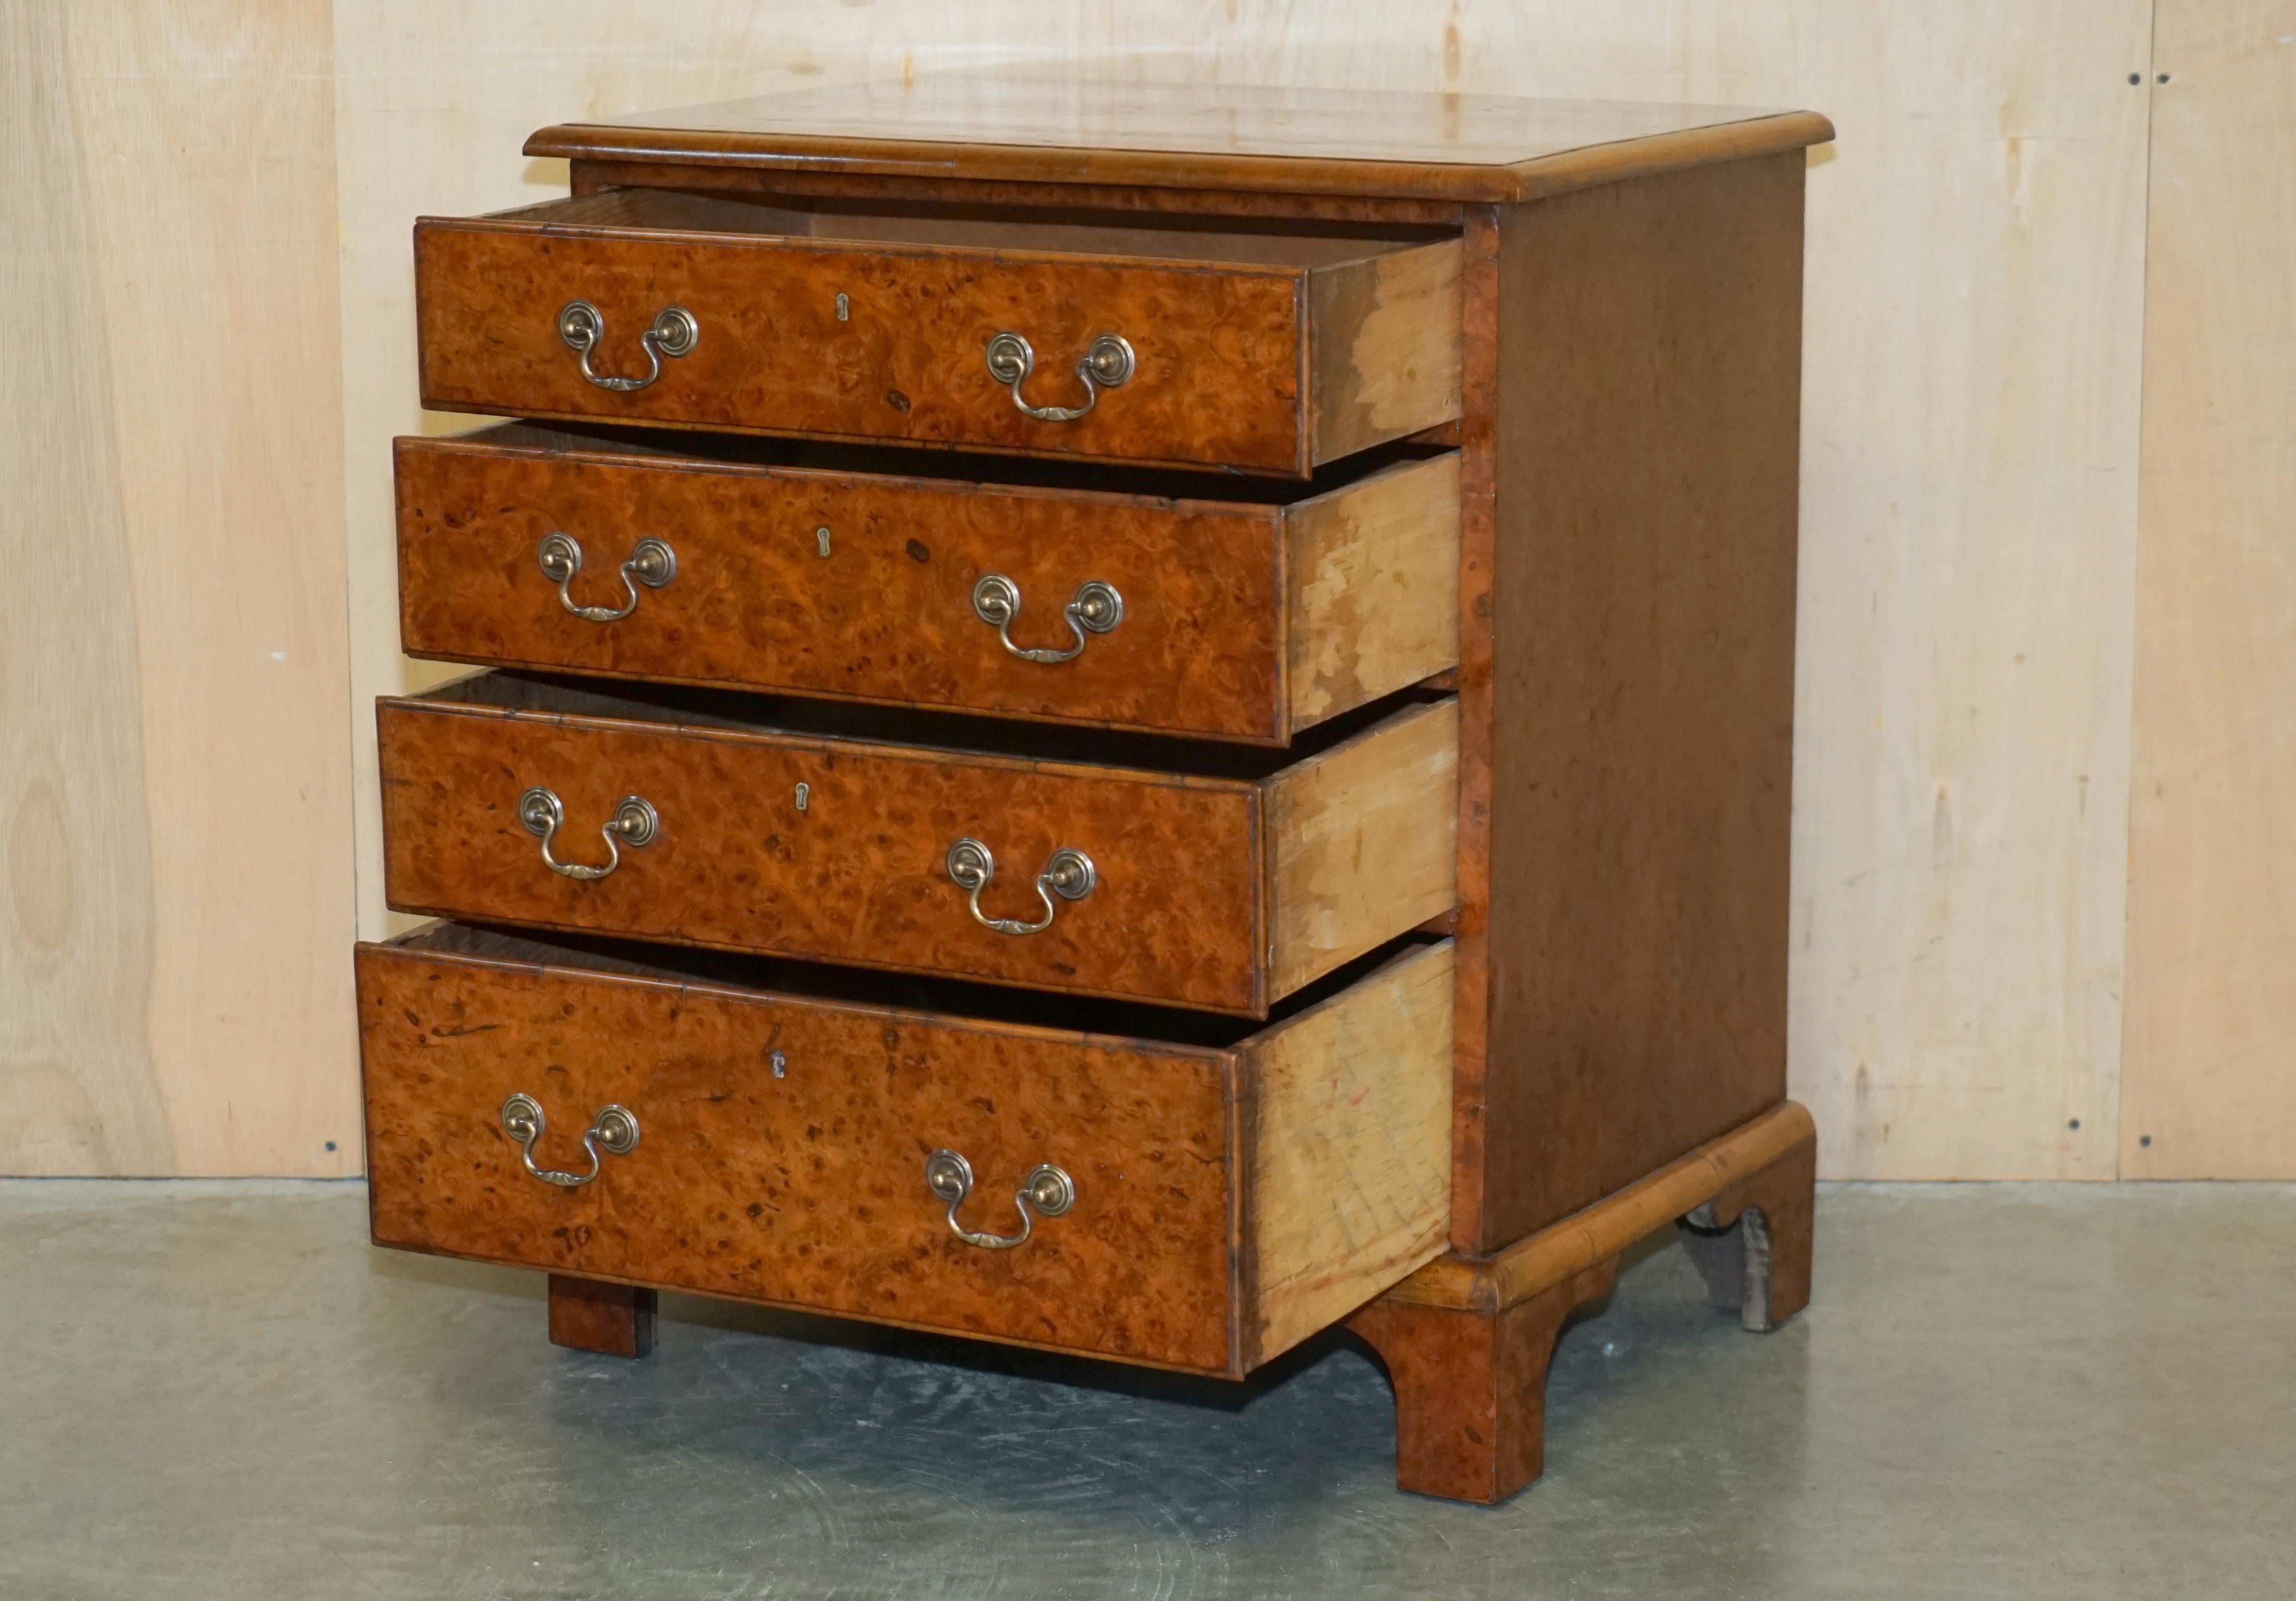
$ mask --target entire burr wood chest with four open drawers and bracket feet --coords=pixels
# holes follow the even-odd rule
[[[1784,1100],[1807,113],[948,76],[416,225],[381,1245],[1244,1376],[1536,1477]]]

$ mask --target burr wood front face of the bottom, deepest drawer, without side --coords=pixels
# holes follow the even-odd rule
[[[358,985],[379,1245],[1228,1367],[1221,1054],[374,946]],[[638,1142],[544,1183],[503,1132],[514,1093],[542,1107],[546,1171],[590,1167],[608,1105]],[[967,1245],[925,1188],[939,1148],[971,1165],[969,1229],[1015,1233],[1040,1162],[1077,1204],[1017,1250]]]

